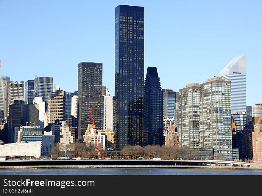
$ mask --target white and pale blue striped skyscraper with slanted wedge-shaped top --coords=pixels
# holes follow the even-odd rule
[[[235,112],[246,112],[246,55],[233,58],[233,60],[220,71],[220,76],[226,81],[231,81],[232,114]]]

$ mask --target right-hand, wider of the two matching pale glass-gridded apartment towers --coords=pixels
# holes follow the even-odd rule
[[[215,159],[232,160],[231,83],[209,78],[199,92],[200,147],[213,148]]]

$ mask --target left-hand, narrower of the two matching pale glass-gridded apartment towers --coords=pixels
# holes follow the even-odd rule
[[[200,141],[200,85],[187,84],[179,89],[179,137],[180,147],[198,148]]]

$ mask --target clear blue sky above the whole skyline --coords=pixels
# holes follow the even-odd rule
[[[145,7],[145,74],[156,66],[163,88],[219,76],[246,54],[247,105],[262,102],[262,1],[9,1],[0,0],[1,75],[53,77],[77,90],[77,64],[103,63],[114,94],[115,7]]]

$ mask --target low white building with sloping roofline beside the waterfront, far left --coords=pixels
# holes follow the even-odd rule
[[[21,143],[7,143],[0,145],[0,153],[8,154],[10,157],[18,156],[32,156],[40,158],[41,155],[41,141]]]

